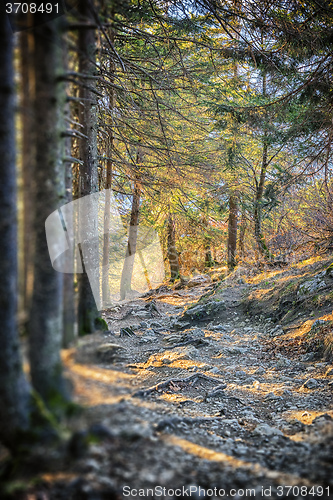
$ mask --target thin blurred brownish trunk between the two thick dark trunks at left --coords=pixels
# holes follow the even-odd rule
[[[34,184],[34,121],[33,121],[33,61],[32,35],[24,30],[20,33],[20,66],[21,66],[21,108],[22,108],[22,232],[23,256],[21,259],[21,307],[28,311],[33,287],[33,253],[34,241],[32,230],[33,184]]]

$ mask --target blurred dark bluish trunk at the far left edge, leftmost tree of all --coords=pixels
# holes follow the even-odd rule
[[[0,439],[15,444],[29,427],[30,388],[24,376],[16,324],[17,214],[13,34],[0,16]]]

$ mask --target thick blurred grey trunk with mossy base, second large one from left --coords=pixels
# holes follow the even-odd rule
[[[40,16],[36,14],[36,20]],[[35,213],[36,250],[34,289],[29,321],[29,357],[34,388],[52,407],[59,397],[67,398],[62,376],[63,274],[52,268],[45,235],[46,218],[65,203],[64,86],[62,48],[59,43],[62,18],[35,26],[35,127],[36,172]]]

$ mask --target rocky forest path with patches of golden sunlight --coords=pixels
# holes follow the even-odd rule
[[[114,498],[125,486],[192,486],[194,498],[199,486],[240,490],[233,498],[252,488],[263,498],[270,487],[269,498],[329,498],[315,485],[333,495],[332,367],[266,352],[272,327],[243,314],[247,290],[220,287],[185,313],[209,288],[161,290],[107,311],[111,333],[65,352],[88,420],[112,433],[78,462],[86,488]],[[120,337],[128,326],[135,335]]]

